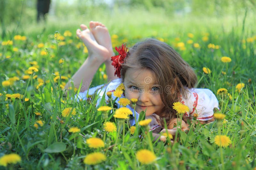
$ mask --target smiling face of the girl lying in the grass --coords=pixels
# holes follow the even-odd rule
[[[160,97],[159,85],[151,70],[128,69],[124,77],[124,86],[127,99],[138,99],[135,108],[138,113],[147,109],[146,116],[149,116],[153,113],[159,115],[163,111],[164,103]]]

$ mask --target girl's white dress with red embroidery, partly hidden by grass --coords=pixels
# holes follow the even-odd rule
[[[121,79],[115,79],[110,81],[110,83],[106,85],[99,85],[93,88],[90,88],[89,90],[86,90],[84,92],[80,92],[77,96],[78,100],[86,100],[87,99],[87,93],[89,95],[92,95],[94,93],[97,93],[98,95],[98,100],[96,107],[99,106],[100,101],[102,97],[105,94],[105,99],[107,100],[108,97],[106,93],[108,91],[115,91],[115,89],[121,84]],[[210,120],[213,117],[213,108],[219,108],[219,102],[216,98],[216,96],[212,93],[211,90],[209,89],[188,89],[186,92],[187,97],[185,96],[180,96],[180,102],[187,105],[189,108],[189,112],[185,113],[185,116],[189,117],[189,115],[193,116],[194,113],[198,114],[197,119],[198,120]],[[124,98],[125,96],[122,94],[121,98]],[[112,93],[112,98],[116,98],[113,93]],[[118,103],[119,98],[116,100],[116,105],[119,108],[120,104]],[[135,116],[134,116],[134,110],[127,105],[127,108],[132,110],[132,117],[130,119],[130,124],[134,125],[135,124]],[[136,112],[136,119],[139,118],[139,113]],[[162,129],[160,123],[159,123],[159,116],[156,114],[152,114],[150,116],[147,116],[146,119],[151,118],[152,121],[150,123],[150,131],[156,132],[160,131]]]

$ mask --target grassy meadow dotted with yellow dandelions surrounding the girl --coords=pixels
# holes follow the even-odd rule
[[[256,34],[215,31],[145,36],[174,47],[195,69],[197,88],[219,100],[214,122],[197,124],[195,114],[188,131],[164,134],[165,143],[145,133],[143,115],[131,127],[131,111],[113,107],[115,97],[96,107],[95,95],[64,93],[88,55],[75,30],[0,39],[0,169],[255,169]],[[145,37],[115,31],[113,49]],[[92,85],[107,78],[103,64]]]

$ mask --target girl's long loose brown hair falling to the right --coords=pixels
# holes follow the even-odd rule
[[[193,88],[197,82],[193,68],[172,47],[156,39],[146,39],[129,49],[121,68],[123,82],[125,73],[130,68],[147,68],[153,71],[165,106],[165,111],[159,115],[160,121],[164,125],[165,119],[168,125],[176,117],[172,104],[178,102],[180,95],[185,95],[187,88]]]

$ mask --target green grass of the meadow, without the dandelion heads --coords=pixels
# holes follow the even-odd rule
[[[7,27],[7,37],[0,40],[13,40],[12,46],[1,46],[0,53],[0,82],[13,76],[22,80],[30,61],[37,61],[39,71],[33,73],[29,79],[14,81],[12,85],[0,87],[0,158],[4,154],[17,153],[22,161],[15,165],[8,165],[6,169],[253,169],[255,164],[255,17],[247,14],[238,18],[187,18],[168,17],[161,11],[149,13],[147,11],[134,10],[134,19],[127,11],[113,11],[103,15],[93,15],[92,18],[70,16],[66,19],[49,18],[47,25],[23,25],[16,32],[15,26]],[[119,14],[119,15],[117,15]],[[85,19],[84,19],[85,18]],[[111,19],[109,19],[111,18]],[[182,19],[182,20],[181,20]],[[228,121],[218,124],[200,126],[191,121],[187,132],[178,131],[178,142],[167,145],[162,142],[154,142],[154,153],[156,161],[150,165],[143,165],[135,154],[140,149],[149,149],[152,141],[148,136],[140,139],[137,135],[131,135],[129,127],[125,124],[123,132],[106,133],[102,124],[104,120],[101,113],[95,107],[97,96],[91,101],[74,102],[71,92],[68,96],[63,95],[60,84],[67,82],[61,79],[54,82],[53,73],[60,72],[62,76],[72,76],[87,57],[83,53],[83,46],[77,48],[80,42],[76,39],[75,31],[81,23],[90,20],[99,20],[104,23],[111,35],[118,35],[113,41],[117,46],[127,39],[127,45],[132,46],[140,39],[147,37],[162,38],[165,42],[175,48],[180,55],[195,68],[198,75],[198,88],[211,89],[220,102],[220,109],[226,115]],[[244,29],[243,29],[244,28]],[[54,40],[54,32],[59,31],[63,35],[65,30],[72,32],[71,37],[65,37],[66,45],[58,48]],[[194,43],[188,44],[187,34],[193,33]],[[202,38],[208,33],[208,41]],[[26,41],[14,40],[14,35],[25,35]],[[179,41],[175,38],[180,38]],[[250,42],[248,38],[252,38]],[[68,40],[73,42],[68,44]],[[184,42],[185,50],[176,47],[176,43]],[[39,43],[44,43],[43,48],[38,48]],[[220,49],[210,49],[208,44],[219,45]],[[13,52],[13,47],[19,49]],[[47,48],[47,55],[41,55],[41,51]],[[6,56],[11,58],[6,59]],[[54,57],[51,57],[54,56]],[[220,58],[228,56],[232,59],[230,63],[222,63]],[[60,59],[63,64],[59,64]],[[211,74],[203,73],[203,67],[211,69]],[[103,72],[95,74],[92,84],[106,83],[103,79],[105,66],[101,66]],[[222,74],[224,71],[226,74]],[[37,75],[37,79],[33,76]],[[45,82],[38,89],[38,78]],[[248,80],[251,81],[248,82]],[[245,87],[238,92],[236,85],[244,83]],[[228,89],[232,99],[217,95],[220,88]],[[20,93],[23,99],[7,99],[6,94]],[[28,101],[24,101],[29,98]],[[100,105],[103,105],[101,101]],[[8,107],[7,107],[8,104]],[[61,111],[65,108],[75,108],[76,115],[65,118]],[[35,112],[42,115],[37,116]],[[115,122],[109,115],[110,120]],[[44,122],[43,126],[36,129],[34,124],[37,120]],[[122,129],[123,124],[117,124]],[[81,132],[70,133],[70,127],[78,127]],[[140,131],[139,131],[140,130]],[[91,137],[103,138],[106,133],[105,146],[100,149],[89,148],[86,139]],[[137,133],[144,133],[144,129],[137,127]],[[221,148],[214,143],[216,135],[227,135],[232,143],[226,148]],[[152,138],[152,137],[151,137]],[[117,139],[117,140],[116,140]],[[56,143],[57,142],[57,143]],[[114,145],[117,142],[116,145]],[[54,148],[52,153],[49,148]],[[47,149],[48,148],[48,149]],[[107,160],[95,166],[85,165],[83,159],[92,152],[102,152]],[[114,152],[113,152],[114,151]],[[0,166],[0,168],[4,168]]]

